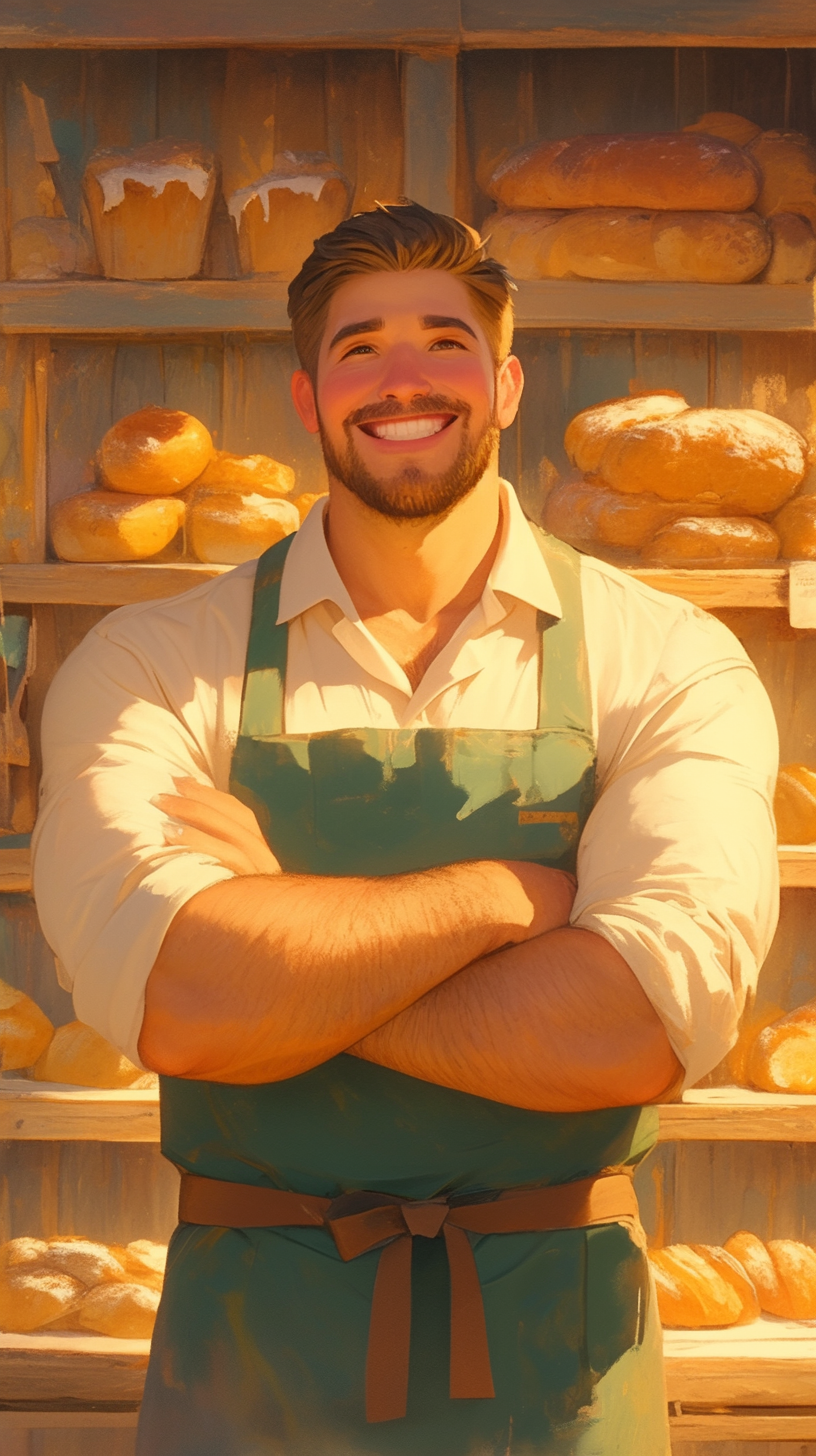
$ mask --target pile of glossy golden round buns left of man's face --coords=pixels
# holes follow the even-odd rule
[[[179,531],[197,561],[238,565],[296,531],[294,472],[268,456],[217,451],[182,409],[149,405],[111,427],[98,483],[51,508],[63,561],[147,561]],[[181,555],[181,552],[179,552]]]

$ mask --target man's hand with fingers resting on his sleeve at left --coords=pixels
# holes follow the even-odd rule
[[[211,855],[236,875],[280,875],[281,868],[258,820],[233,794],[223,794],[197,779],[173,779],[176,794],[152,801],[178,824],[165,826],[165,843]]]

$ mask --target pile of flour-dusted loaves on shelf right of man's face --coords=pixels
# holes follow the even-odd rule
[[[673,390],[581,411],[564,448],[576,476],[549,491],[546,529],[581,550],[651,566],[769,565],[781,549],[777,513],[790,511],[807,469],[806,441],[781,419],[689,409]],[[801,534],[785,527],[791,555]]]

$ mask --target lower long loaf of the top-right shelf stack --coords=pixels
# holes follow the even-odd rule
[[[516,278],[748,282],[771,258],[755,213],[517,211],[488,218],[485,232]]]

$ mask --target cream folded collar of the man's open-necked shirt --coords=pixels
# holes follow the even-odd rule
[[[561,616],[561,603],[519,498],[507,480],[501,491],[501,539],[484,596],[485,609],[495,594],[514,597],[548,616]],[[316,502],[297,531],[281,577],[278,622],[291,622],[321,601],[332,601],[344,617],[358,622],[323,531],[326,501]],[[488,610],[488,617],[494,612]]]

